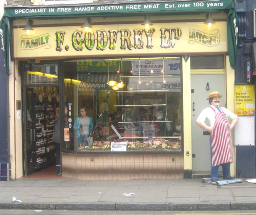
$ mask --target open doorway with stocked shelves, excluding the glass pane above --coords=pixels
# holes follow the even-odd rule
[[[23,174],[25,176],[55,163],[52,134],[54,112],[59,106],[57,92],[58,87],[24,87]]]

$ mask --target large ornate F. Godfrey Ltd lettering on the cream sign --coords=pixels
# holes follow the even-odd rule
[[[111,29],[106,32],[105,30],[97,30],[96,32],[83,32],[77,30],[73,32],[72,47],[76,51],[82,51],[84,48],[87,50],[92,50],[96,48],[97,50],[105,50],[109,48],[110,50],[116,49],[116,42],[120,38],[120,49],[122,50],[132,50],[132,49],[142,49],[144,46],[150,49],[153,47],[152,37],[155,32],[154,28],[150,29],[134,29],[131,32],[128,29]],[[119,35],[118,35],[119,34]],[[64,44],[65,32],[59,31],[55,33],[56,35],[56,51],[61,52],[62,47],[68,51],[70,47]],[[179,40],[182,36],[180,28],[161,28],[160,29],[160,39],[161,48],[174,48],[175,43],[173,39]],[[146,44],[144,44],[143,38],[146,38]],[[66,39],[65,39],[66,41]]]

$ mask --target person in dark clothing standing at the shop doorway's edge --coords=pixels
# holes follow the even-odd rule
[[[68,114],[67,107],[65,106],[65,115]],[[52,141],[56,150],[56,175],[61,175],[60,168],[60,108],[57,107],[55,110],[55,118],[54,118],[54,133],[52,135]]]

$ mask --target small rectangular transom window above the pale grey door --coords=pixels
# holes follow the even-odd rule
[[[223,55],[190,56],[191,69],[223,69]]]

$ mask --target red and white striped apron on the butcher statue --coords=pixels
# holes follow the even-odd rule
[[[212,107],[211,107],[212,108]],[[222,163],[232,163],[232,143],[230,123],[226,113],[215,111],[215,123],[211,133],[212,166]]]

